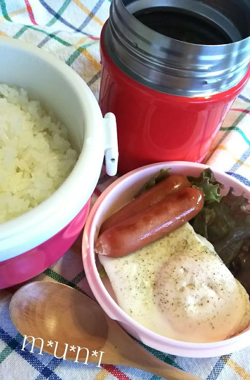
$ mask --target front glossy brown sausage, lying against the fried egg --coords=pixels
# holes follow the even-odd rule
[[[104,231],[97,239],[95,252],[110,257],[128,255],[188,222],[201,211],[203,204],[204,194],[197,188],[178,190]]]

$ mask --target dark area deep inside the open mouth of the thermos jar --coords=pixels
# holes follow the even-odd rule
[[[178,41],[200,45],[234,42],[220,25],[187,9],[153,7],[137,11],[133,16],[155,32]]]

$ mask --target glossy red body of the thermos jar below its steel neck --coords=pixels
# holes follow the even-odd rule
[[[110,56],[112,38],[105,39],[108,27],[106,22],[101,33],[99,105],[103,114],[113,112],[116,116],[118,173],[159,161],[203,162],[234,99],[247,84],[250,77],[247,62],[241,76],[231,79],[231,87],[224,85],[225,90],[209,92],[202,88],[200,96],[198,91],[198,96],[194,96],[195,89],[188,92],[187,88],[182,93],[188,96],[179,95],[178,91],[167,93],[168,89],[163,92],[162,88],[154,89],[151,83],[143,83],[140,73],[133,78],[126,70],[130,62],[126,66],[119,63],[122,55],[118,59]],[[138,50],[138,44],[135,48]],[[203,73],[201,78],[206,85],[209,80],[204,78],[209,78],[209,73],[207,76]]]

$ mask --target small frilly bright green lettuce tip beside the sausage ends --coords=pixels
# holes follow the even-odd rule
[[[210,168],[203,170],[199,177],[188,176],[187,179],[192,187],[196,187],[204,193],[205,203],[220,202],[222,199],[220,189],[223,188],[223,185],[215,179],[214,173]]]

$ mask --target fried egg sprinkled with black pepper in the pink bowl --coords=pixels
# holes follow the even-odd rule
[[[189,223],[130,255],[99,260],[121,309],[157,334],[208,343],[250,323],[247,292]]]

